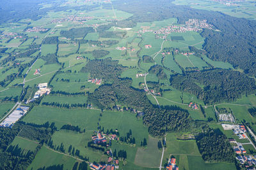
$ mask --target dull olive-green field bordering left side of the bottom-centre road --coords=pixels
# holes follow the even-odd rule
[[[147,148],[138,148],[135,157],[135,164],[142,167],[157,167],[161,160],[161,150],[157,148],[159,139],[148,138]],[[145,164],[147,162],[147,164]]]

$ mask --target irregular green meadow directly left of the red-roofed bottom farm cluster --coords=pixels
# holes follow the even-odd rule
[[[72,131],[58,131],[52,135],[53,145],[60,146],[61,143],[64,145],[65,153],[68,153],[68,147],[72,145],[75,150],[80,151],[80,155],[88,157],[90,162],[107,162],[108,157],[103,152],[87,147],[87,143],[92,141],[93,132],[78,133]]]

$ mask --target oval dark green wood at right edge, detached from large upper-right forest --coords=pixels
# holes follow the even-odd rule
[[[235,101],[256,90],[255,80],[239,71],[209,69],[175,74],[170,78],[175,89],[195,94],[205,104]]]

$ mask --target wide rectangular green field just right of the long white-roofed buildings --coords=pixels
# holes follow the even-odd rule
[[[79,127],[85,128],[86,131],[94,131],[97,129],[99,115],[99,110],[67,110],[37,106],[24,117],[23,121],[35,124],[44,124],[45,122],[50,122],[51,124],[51,122],[54,122],[58,129],[66,124],[79,125]]]

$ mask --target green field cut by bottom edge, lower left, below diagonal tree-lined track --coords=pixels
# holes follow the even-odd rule
[[[72,157],[54,152],[45,146],[42,146],[28,169],[38,169],[40,167],[49,167],[56,164],[63,164],[64,169],[72,169],[75,162],[76,159]]]

